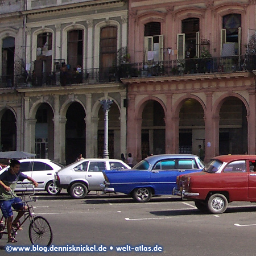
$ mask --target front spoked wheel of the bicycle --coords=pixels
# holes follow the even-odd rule
[[[28,235],[32,245],[49,246],[52,243],[52,229],[46,218],[36,216],[30,222]]]

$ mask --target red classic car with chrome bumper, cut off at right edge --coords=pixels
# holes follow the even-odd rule
[[[232,201],[256,202],[256,155],[216,156],[203,171],[176,182],[173,194],[195,201],[203,212],[223,213]]]

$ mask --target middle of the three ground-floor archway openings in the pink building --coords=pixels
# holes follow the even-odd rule
[[[179,114],[179,152],[198,155],[198,146],[205,151],[204,109],[199,101],[189,98]]]

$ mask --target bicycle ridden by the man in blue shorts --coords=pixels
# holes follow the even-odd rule
[[[11,191],[11,193],[14,195],[14,193]],[[29,219],[30,225],[28,227],[28,237],[30,238],[30,241],[32,245],[40,245],[40,246],[50,246],[52,243],[52,229],[49,225],[49,222],[46,220],[46,218],[42,216],[36,216],[34,208],[32,205],[29,205],[30,202],[37,201],[36,198],[32,199],[32,196],[35,195],[35,191],[33,191],[30,195],[25,195],[23,193],[22,196],[19,196],[21,199],[23,199],[23,204],[27,206],[27,209],[24,210],[24,215],[22,218],[24,218],[23,221],[20,221],[19,226],[13,226],[12,228],[12,236],[15,238],[16,234],[18,234],[18,230],[20,230],[20,227],[24,224],[24,222]],[[14,195],[15,196],[15,195]],[[24,200],[26,197],[28,197],[27,200]],[[14,210],[14,209],[13,209]],[[15,212],[19,212],[20,210],[14,210]],[[7,233],[7,227],[6,227],[6,219],[3,221],[3,216],[0,219],[0,240],[3,237],[3,234]]]

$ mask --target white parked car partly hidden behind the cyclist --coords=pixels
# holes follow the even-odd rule
[[[49,195],[58,195],[61,191],[54,183],[55,172],[60,170],[63,165],[49,159],[20,159],[20,171],[32,177],[38,182],[35,191],[47,191]],[[0,171],[4,172],[7,166]],[[32,184],[29,180],[18,181],[15,191],[32,191]]]

